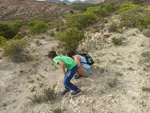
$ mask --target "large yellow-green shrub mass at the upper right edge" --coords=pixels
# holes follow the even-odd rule
[[[143,7],[134,4],[122,4],[121,9],[121,26],[136,27],[144,29],[150,24],[150,11],[145,10]]]

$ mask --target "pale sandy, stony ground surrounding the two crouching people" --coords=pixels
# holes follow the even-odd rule
[[[8,62],[2,57],[1,49],[1,113],[52,113],[56,108],[61,108],[63,113],[149,113],[149,38],[137,29],[126,28],[122,33],[109,33],[107,29],[88,31],[85,36],[78,50],[88,52],[95,64],[89,77],[72,80],[83,91],[77,97],[72,97],[70,92],[59,95],[63,90],[63,75],[46,56],[48,51],[57,50],[58,41],[48,32],[25,37],[31,55],[36,56],[32,62]],[[121,46],[115,46],[113,37],[125,40]],[[33,104],[28,98],[50,87],[58,93],[56,100]]]

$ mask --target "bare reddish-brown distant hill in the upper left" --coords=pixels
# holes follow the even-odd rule
[[[66,5],[36,0],[0,0],[0,21],[52,19],[70,12]]]

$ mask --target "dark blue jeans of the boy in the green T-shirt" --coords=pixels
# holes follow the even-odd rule
[[[74,90],[74,91],[78,90],[79,88],[77,86],[75,86],[74,84],[72,84],[70,82],[70,80],[72,79],[72,77],[74,76],[74,74],[77,72],[77,70],[78,70],[77,66],[74,67],[71,70],[67,70],[66,76],[64,78],[64,85],[65,85],[65,87],[68,88],[68,89]]]

